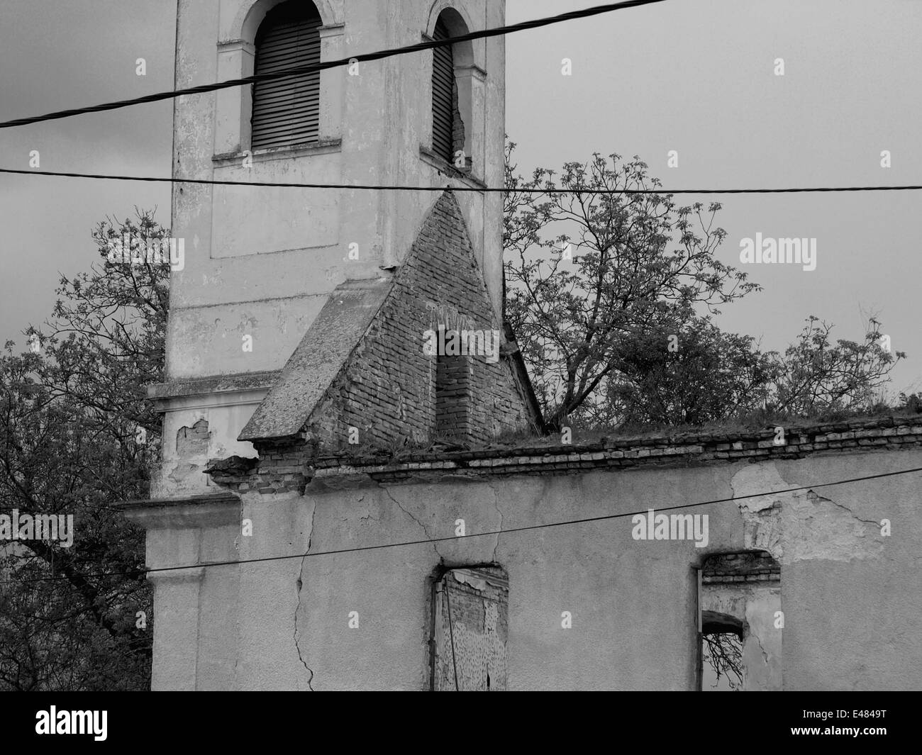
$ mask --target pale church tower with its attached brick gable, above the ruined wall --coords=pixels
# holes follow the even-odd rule
[[[504,0],[179,0],[176,87],[504,16]],[[501,36],[175,100],[177,179],[439,191],[174,184],[186,253],[167,382],[150,389],[164,416],[154,498],[217,491],[207,466],[260,444],[482,440],[534,419],[500,336],[502,195],[444,191],[502,185],[504,66]],[[422,353],[425,333],[465,325],[486,334],[480,372]]]

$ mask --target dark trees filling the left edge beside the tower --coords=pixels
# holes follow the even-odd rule
[[[169,236],[152,213],[94,231],[101,261],[62,277],[34,350],[0,355],[0,513],[72,514],[70,548],[26,539],[0,553],[0,689],[146,690],[151,594],[144,532],[113,504],[148,495],[160,421],[166,263],[112,261],[128,234]]]

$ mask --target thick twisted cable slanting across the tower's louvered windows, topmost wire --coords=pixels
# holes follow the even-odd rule
[[[287,78],[295,76],[304,76],[307,74],[317,73],[318,71],[325,71],[328,68],[339,68],[345,65],[352,65],[356,62],[365,62],[372,60],[382,60],[384,58],[393,57],[395,55],[404,55],[408,53],[420,53],[423,50],[432,50],[436,47],[443,47],[451,44],[456,44],[460,41],[473,41],[473,40],[482,40],[488,39],[490,37],[499,37],[506,34],[513,34],[516,31],[525,31],[526,29],[538,29],[544,26],[550,26],[551,24],[559,24],[563,21],[571,21],[576,18],[589,18],[592,16],[599,16],[603,13],[610,13],[615,10],[624,10],[629,7],[637,6],[650,6],[655,3],[663,3],[665,0],[627,0],[623,3],[609,3],[604,6],[594,6],[590,8],[585,8],[584,10],[573,10],[569,13],[561,13],[559,16],[550,16],[546,18],[535,18],[530,21],[523,21],[522,23],[512,24],[511,26],[502,26],[495,29],[483,29],[482,31],[472,31],[467,34],[459,34],[456,37],[451,37],[447,40],[435,40],[435,41],[425,41],[418,44],[410,44],[405,47],[396,47],[391,50],[379,50],[376,53],[363,53],[361,55],[352,55],[349,58],[340,58],[339,60],[331,60],[326,63],[314,64],[314,65],[298,65],[294,68],[287,68],[281,71],[274,71],[267,74],[256,74],[254,76],[243,77],[243,78],[232,78],[227,81],[218,81],[213,84],[202,84],[198,87],[189,87],[184,89],[171,89],[166,92],[157,92],[156,94],[148,94],[144,97],[137,97],[133,100],[118,100],[114,102],[103,102],[100,105],[93,105],[91,107],[83,108],[74,108],[73,110],[63,110],[58,112],[49,112],[45,115],[35,115],[30,118],[17,118],[12,121],[6,121],[0,123],[0,128],[12,128],[14,126],[20,125],[29,125],[29,124],[38,124],[42,121],[53,121],[59,118],[69,118],[72,115],[80,115],[85,112],[103,112],[109,110],[118,110],[119,108],[127,108],[132,105],[140,105],[147,102],[159,102],[160,100],[172,100],[177,97],[182,97],[186,94],[204,94],[205,92],[212,92],[218,89],[226,89],[231,87],[241,87],[246,84],[254,84],[258,81],[271,81],[277,78]]]

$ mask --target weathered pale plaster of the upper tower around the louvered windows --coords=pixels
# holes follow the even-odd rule
[[[241,45],[252,40],[240,35],[253,27],[248,18],[271,5],[271,0],[180,0],[177,86],[252,73],[240,53]],[[432,0],[320,3],[330,28],[325,57],[417,43],[434,26],[434,5]],[[503,2],[458,0],[454,5],[471,29],[503,23]],[[503,41],[477,41],[474,47],[486,76],[473,111],[475,123],[467,124],[479,135],[473,172],[485,183],[502,185]],[[226,60],[231,63],[219,65]],[[420,155],[420,147],[431,143],[431,52],[362,63],[358,76],[332,69],[322,81],[321,145],[257,153],[252,168],[243,167],[242,155],[248,147],[248,88],[176,100],[174,175],[254,182],[465,183],[440,175]],[[242,115],[234,118],[235,112]],[[399,264],[408,253],[437,196],[177,184],[172,230],[186,240],[186,261],[171,281],[168,377],[276,369],[319,310],[313,300],[325,298],[347,279],[386,275],[382,267]],[[459,201],[499,311],[502,199],[463,194]],[[349,259],[350,244],[358,244],[358,260]],[[281,312],[269,316],[274,312],[269,302],[277,300],[284,300],[276,308]],[[212,316],[215,307],[220,311]],[[240,328],[264,348],[245,357],[230,353],[224,334]],[[278,339],[278,331],[287,339]]]

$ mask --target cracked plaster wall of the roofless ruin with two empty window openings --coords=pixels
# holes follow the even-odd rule
[[[427,689],[435,568],[495,563],[509,578],[509,689],[691,690],[694,567],[712,553],[763,548],[781,564],[783,689],[915,689],[917,475],[691,509],[709,517],[703,548],[634,539],[630,514],[919,466],[916,447],[574,474],[542,475],[539,465],[531,475],[481,478],[443,470],[442,481],[417,484],[329,472],[303,497],[245,493],[228,503],[220,526],[195,524],[192,506],[182,516],[149,513],[163,523],[148,533],[153,567],[453,537],[462,519],[466,532],[434,544],[208,567],[194,586],[161,582],[155,686]],[[477,537],[611,514],[624,516]],[[252,536],[241,536],[242,519]],[[180,671],[171,648],[190,646],[197,667]]]

